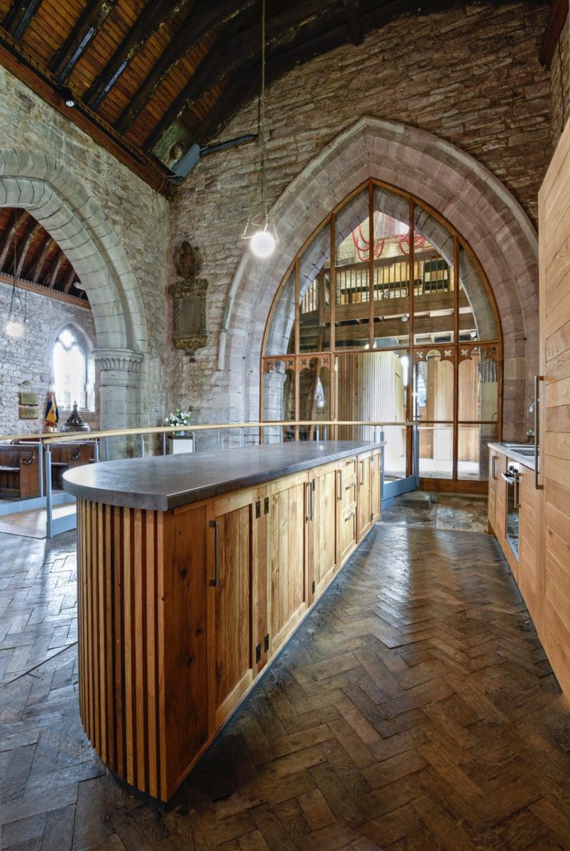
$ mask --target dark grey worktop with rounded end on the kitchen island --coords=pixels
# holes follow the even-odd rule
[[[63,487],[90,502],[168,511],[380,446],[383,443],[370,441],[302,441],[102,461],[66,471]]]

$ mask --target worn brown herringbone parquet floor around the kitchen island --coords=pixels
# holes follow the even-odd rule
[[[570,849],[568,703],[496,542],[425,517],[377,524],[166,807],[84,738],[72,534],[0,535],[2,847]]]

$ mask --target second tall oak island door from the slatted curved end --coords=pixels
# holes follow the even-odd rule
[[[308,473],[268,484],[268,645],[285,643],[308,608],[305,575],[305,486]]]

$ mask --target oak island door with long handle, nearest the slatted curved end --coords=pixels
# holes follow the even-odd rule
[[[254,493],[208,505],[208,704],[210,734],[254,678]]]

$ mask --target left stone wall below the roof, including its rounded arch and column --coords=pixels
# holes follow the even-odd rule
[[[81,277],[95,321],[101,424],[157,424],[168,201],[0,68],[0,205],[29,209]]]

